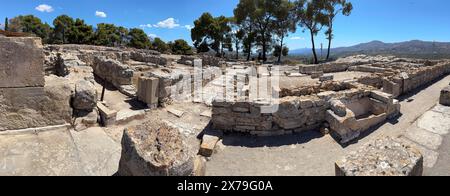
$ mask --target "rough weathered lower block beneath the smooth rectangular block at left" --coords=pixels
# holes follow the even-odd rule
[[[47,77],[45,87],[0,88],[0,131],[71,122],[68,81]]]

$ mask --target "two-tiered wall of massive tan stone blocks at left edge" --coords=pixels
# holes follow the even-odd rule
[[[44,78],[40,38],[0,37],[0,131],[69,123],[73,88]]]

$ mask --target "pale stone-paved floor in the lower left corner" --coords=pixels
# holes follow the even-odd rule
[[[0,176],[111,176],[120,154],[101,128],[0,135]]]

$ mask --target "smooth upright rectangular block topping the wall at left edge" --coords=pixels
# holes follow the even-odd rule
[[[41,39],[0,37],[0,88],[43,87],[44,84]]]

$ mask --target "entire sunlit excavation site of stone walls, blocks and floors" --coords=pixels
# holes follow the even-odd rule
[[[450,175],[449,74],[0,35],[0,175]]]

